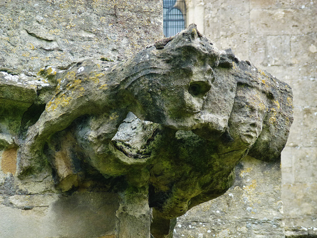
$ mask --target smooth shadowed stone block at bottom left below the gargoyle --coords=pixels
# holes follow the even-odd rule
[[[15,195],[0,205],[0,237],[111,237],[118,205],[117,195],[106,192]]]

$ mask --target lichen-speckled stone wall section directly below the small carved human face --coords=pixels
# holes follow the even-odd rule
[[[222,196],[177,219],[174,238],[283,238],[280,162],[247,156]]]

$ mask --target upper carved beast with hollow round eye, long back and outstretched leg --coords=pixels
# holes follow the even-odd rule
[[[213,43],[198,38],[191,26],[173,44],[159,50],[149,47],[110,67],[106,62],[86,60],[58,72],[43,68],[39,74],[57,83],[55,96],[28,130],[21,172],[34,169],[34,158],[49,136],[83,115],[102,115],[109,124],[109,139],[129,111],[174,129],[191,130],[212,123],[203,118],[202,108],[214,80],[212,67],[219,58]]]

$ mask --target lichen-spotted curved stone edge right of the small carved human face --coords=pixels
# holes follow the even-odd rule
[[[265,74],[266,75],[266,74]],[[291,88],[284,82],[266,75],[268,111],[263,130],[249,151],[249,155],[266,162],[280,156],[285,147],[293,122],[293,96]]]

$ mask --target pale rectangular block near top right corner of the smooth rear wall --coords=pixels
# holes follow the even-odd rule
[[[250,10],[250,33],[264,35],[301,35],[316,32],[314,9],[252,9]]]

